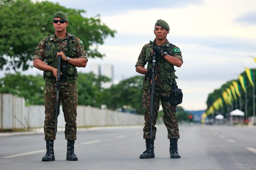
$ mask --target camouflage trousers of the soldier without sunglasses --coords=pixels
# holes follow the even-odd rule
[[[148,139],[150,138],[150,128],[151,128],[151,116],[150,116],[150,95],[151,93],[147,90],[144,90],[143,93],[143,109],[145,111],[144,119],[145,119],[145,126],[143,128],[143,138]],[[169,92],[159,92],[155,94],[155,101],[154,101],[154,110],[153,110],[153,121],[152,121],[152,139],[155,139],[156,135],[156,120],[158,116],[159,110],[159,102],[160,97],[168,97],[170,95]],[[180,138],[179,134],[179,125],[178,120],[176,117],[176,107],[172,106],[168,101],[162,102],[163,112],[164,112],[164,124],[167,127],[168,131],[168,139],[169,138]]]

